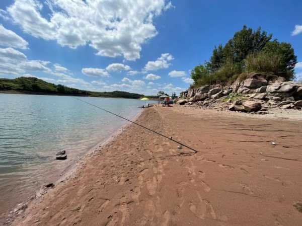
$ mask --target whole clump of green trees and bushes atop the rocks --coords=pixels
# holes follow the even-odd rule
[[[253,31],[244,26],[224,46],[215,46],[209,61],[195,66],[191,78],[195,87],[234,81],[241,73],[252,71],[292,80],[296,58],[289,43],[272,40],[272,34],[261,28]]]

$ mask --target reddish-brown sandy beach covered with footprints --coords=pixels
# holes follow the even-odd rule
[[[136,121],[199,153],[131,124],[13,225],[301,225],[302,121],[180,106]]]

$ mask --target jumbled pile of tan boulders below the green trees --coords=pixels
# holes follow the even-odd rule
[[[234,97],[242,101],[232,103]],[[188,89],[181,93],[177,103],[188,105],[188,102],[203,107],[221,103],[221,106],[233,111],[263,114],[276,107],[302,109],[302,84],[285,82],[284,78],[272,74],[250,73],[245,80],[238,79],[224,87],[215,84]]]

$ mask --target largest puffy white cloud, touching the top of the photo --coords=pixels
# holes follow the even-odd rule
[[[61,46],[89,44],[97,55],[140,58],[141,45],[157,35],[155,17],[173,7],[165,0],[15,0],[7,12],[24,32]],[[49,19],[41,15],[43,8]],[[1,15],[4,15],[2,12]]]

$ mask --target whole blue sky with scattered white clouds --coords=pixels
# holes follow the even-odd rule
[[[0,77],[172,94],[247,25],[289,42],[302,79],[302,1],[1,0]]]

